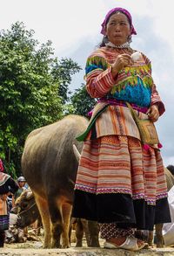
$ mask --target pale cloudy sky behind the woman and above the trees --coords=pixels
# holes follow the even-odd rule
[[[131,47],[151,59],[152,75],[166,112],[157,121],[164,165],[174,164],[174,32],[172,0],[0,0],[0,30],[23,22],[40,43],[52,42],[58,59],[71,58],[83,70],[72,78],[70,90],[84,83],[89,54],[102,40],[101,24],[115,7],[131,12],[137,36]]]

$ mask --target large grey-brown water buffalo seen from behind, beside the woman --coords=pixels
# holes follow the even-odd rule
[[[81,152],[83,143],[76,137],[88,122],[83,116],[68,115],[35,129],[25,141],[21,166],[42,218],[44,248],[61,247],[61,235],[62,246],[70,246],[70,213],[78,165],[72,145]]]

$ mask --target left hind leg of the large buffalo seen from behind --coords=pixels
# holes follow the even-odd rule
[[[51,236],[50,236],[50,211],[48,207],[48,203],[43,200],[42,197],[35,195],[35,199],[37,202],[37,207],[40,212],[42,223],[43,223],[43,230],[44,230],[44,243],[43,248],[50,248],[51,247]]]

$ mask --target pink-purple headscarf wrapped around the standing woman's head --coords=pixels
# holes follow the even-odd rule
[[[105,28],[106,28],[106,24],[110,18],[110,16],[116,12],[116,11],[120,11],[122,13],[124,13],[124,15],[126,17],[128,17],[129,21],[130,21],[130,24],[131,24],[131,35],[137,35],[137,32],[135,31],[134,29],[134,26],[132,24],[132,18],[131,18],[131,13],[128,11],[128,10],[125,10],[124,8],[121,8],[121,7],[117,7],[117,8],[114,8],[114,9],[111,9],[107,14],[106,14],[106,17],[104,18],[104,22],[102,24],[102,30],[101,30],[101,34],[103,34],[105,36]]]

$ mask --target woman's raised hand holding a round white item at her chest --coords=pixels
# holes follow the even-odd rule
[[[120,54],[117,56],[117,59],[112,64],[111,73],[113,77],[117,75],[117,73],[122,70],[125,66],[130,66],[133,64],[133,61],[131,59],[131,55],[129,54]]]

